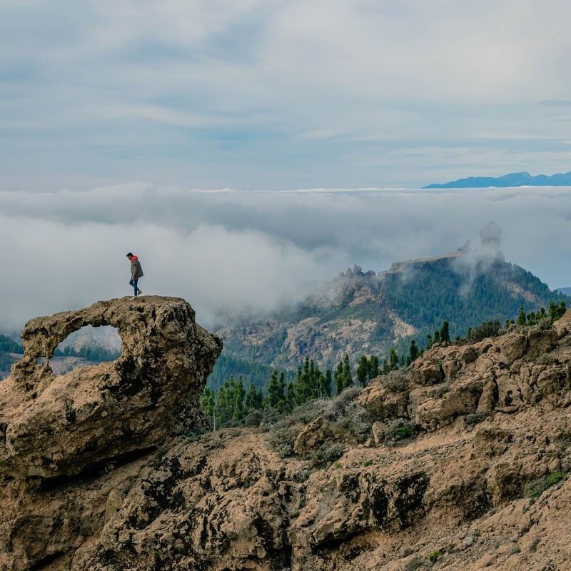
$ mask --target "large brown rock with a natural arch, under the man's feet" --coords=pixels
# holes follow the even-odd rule
[[[54,376],[49,358],[84,325],[117,328],[121,357]],[[222,342],[185,300],[101,301],[32,319],[21,335],[24,358],[0,383],[0,477],[77,474],[203,423],[198,397]]]

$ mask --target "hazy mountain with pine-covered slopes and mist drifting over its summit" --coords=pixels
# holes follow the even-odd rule
[[[362,354],[383,358],[399,344],[406,353],[413,338],[425,345],[444,320],[454,338],[482,321],[514,319],[522,306],[530,312],[565,299],[497,249],[474,251],[468,243],[378,274],[348,268],[295,308],[228,320],[215,331],[233,358],[295,370],[308,356],[333,368],[345,353],[355,363]]]

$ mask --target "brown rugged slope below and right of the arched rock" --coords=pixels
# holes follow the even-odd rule
[[[427,363],[437,384],[421,384]],[[570,386],[571,311],[550,330],[435,346],[408,386],[373,380],[360,405],[376,445],[318,417],[299,427],[299,458],[278,458],[261,428],[226,429],[74,477],[0,479],[0,570],[405,571],[433,557],[442,571],[567,571]],[[420,435],[386,440],[403,419]],[[345,454],[311,468],[335,439]]]

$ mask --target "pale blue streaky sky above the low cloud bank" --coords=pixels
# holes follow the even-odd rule
[[[0,0],[0,190],[571,170],[562,0]]]

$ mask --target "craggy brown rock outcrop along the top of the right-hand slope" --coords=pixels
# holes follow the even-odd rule
[[[373,380],[361,402],[378,420],[406,418],[425,430],[438,430],[469,414],[517,413],[540,401],[570,400],[567,345],[571,311],[554,328],[514,328],[473,345],[433,345],[415,360],[412,384],[388,390]]]

